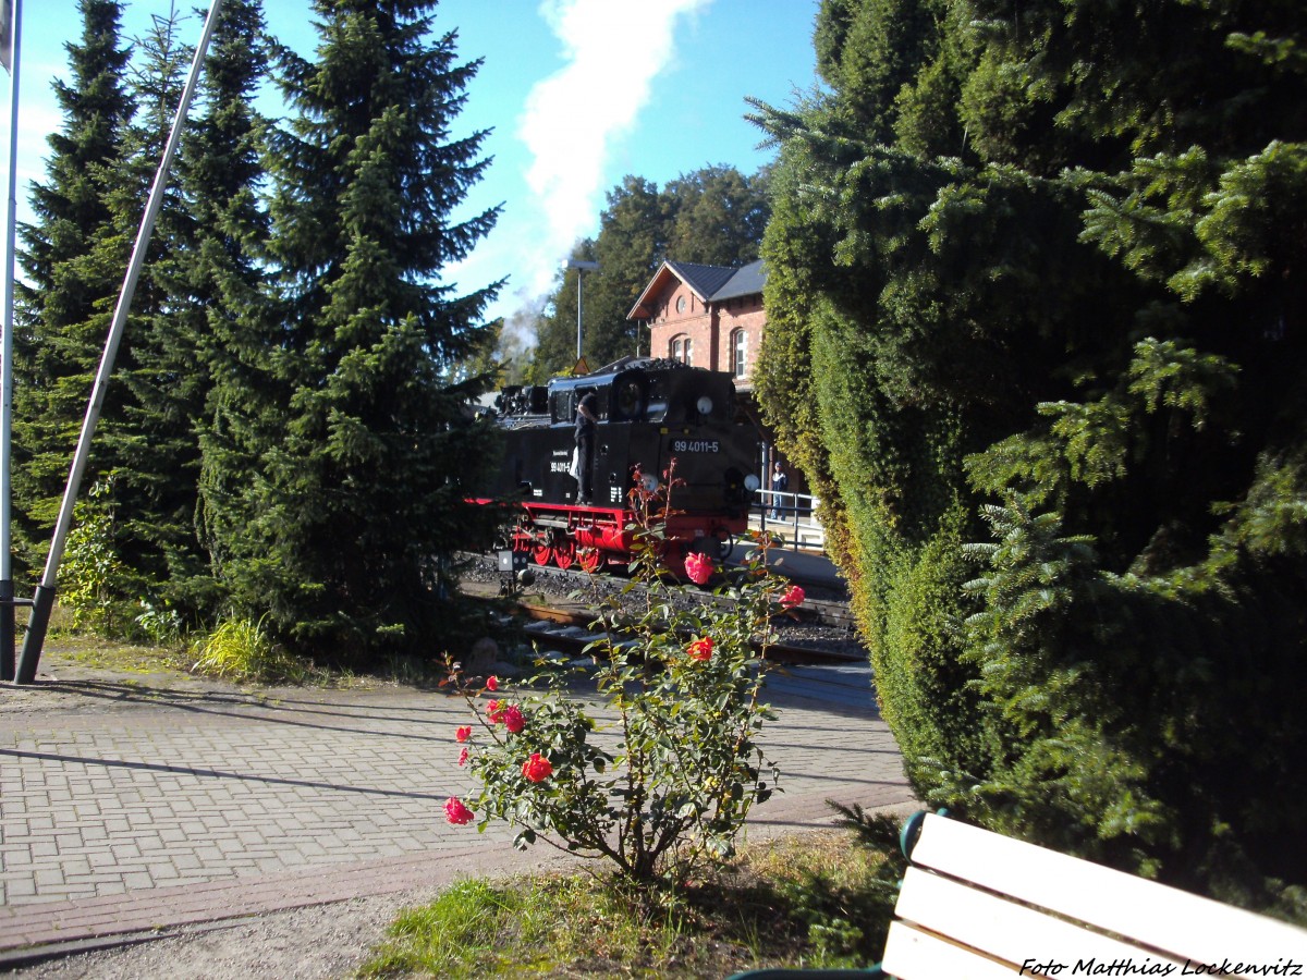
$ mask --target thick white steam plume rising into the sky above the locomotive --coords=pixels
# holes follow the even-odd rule
[[[518,136],[531,154],[525,179],[541,238],[521,285],[542,294],[576,239],[593,234],[605,163],[672,61],[677,20],[711,0],[545,0],[540,14],[567,64],[527,97]]]

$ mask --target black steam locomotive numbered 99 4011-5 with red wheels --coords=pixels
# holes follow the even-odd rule
[[[589,392],[599,401],[595,493],[583,506],[570,470],[576,404]],[[673,485],[663,487],[670,503],[664,524],[669,566],[689,551],[719,555],[748,527],[758,436],[736,418],[728,374],[629,359],[597,374],[555,378],[548,387],[507,388],[495,409],[506,451],[493,493],[521,502],[514,549],[538,564],[625,562],[631,490],[637,481],[661,486],[669,472]]]

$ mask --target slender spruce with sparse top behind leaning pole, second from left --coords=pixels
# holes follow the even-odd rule
[[[124,139],[124,175],[110,195],[123,227],[139,227],[158,174],[193,56],[182,41],[190,20],[174,7],[154,16],[132,44],[129,82],[137,112]],[[176,281],[196,227],[176,171],[166,184],[136,282],[88,480],[110,483],[98,506],[115,517],[112,545],[120,574],[106,583],[114,597],[128,606],[146,601],[193,612],[183,596],[205,566],[193,531],[195,421],[205,375],[187,329],[193,301]]]

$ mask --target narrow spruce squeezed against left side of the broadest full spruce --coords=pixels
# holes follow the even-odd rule
[[[178,269],[207,388],[199,418],[196,532],[209,558],[213,595],[196,579],[196,600],[223,602],[231,545],[247,521],[248,489],[277,438],[286,402],[269,385],[281,327],[269,299],[269,234],[260,199],[267,120],[254,98],[267,78],[268,42],[259,0],[227,0],[203,74],[203,112],[184,144],[179,178],[196,240]],[[235,571],[239,575],[239,570]],[[210,612],[222,612],[213,610]]]

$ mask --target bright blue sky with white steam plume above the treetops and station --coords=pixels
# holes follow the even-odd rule
[[[129,0],[124,39],[170,0]],[[193,4],[178,3],[179,9]],[[813,85],[818,0],[442,0],[461,60],[482,57],[455,135],[493,129],[494,163],[471,208],[503,203],[499,226],[446,281],[461,290],[510,277],[491,315],[540,306],[572,243],[597,231],[604,192],[626,174],[659,184],[706,165],[752,174],[771,150],[744,120],[746,95],[792,105]],[[269,30],[311,56],[308,0],[265,0]],[[76,0],[25,0],[18,212],[43,179],[46,135],[60,120],[50,82],[81,34]],[[200,21],[182,29],[199,39]],[[4,95],[8,133],[9,95]],[[264,111],[277,111],[274,103]],[[7,166],[7,161],[0,161]],[[516,318],[514,318],[516,319]]]

